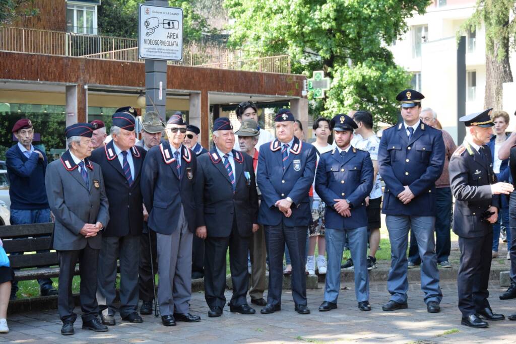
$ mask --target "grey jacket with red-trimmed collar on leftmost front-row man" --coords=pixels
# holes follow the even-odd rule
[[[101,222],[104,228],[109,224],[108,201],[101,168],[88,159],[85,159],[85,164],[89,170],[89,188],[86,187],[69,151],[59,160],[49,163],[46,168],[46,194],[50,209],[56,217],[53,248],[59,251],[82,250],[86,244],[92,249],[100,250],[101,232],[88,239],[79,232],[85,223]]]

